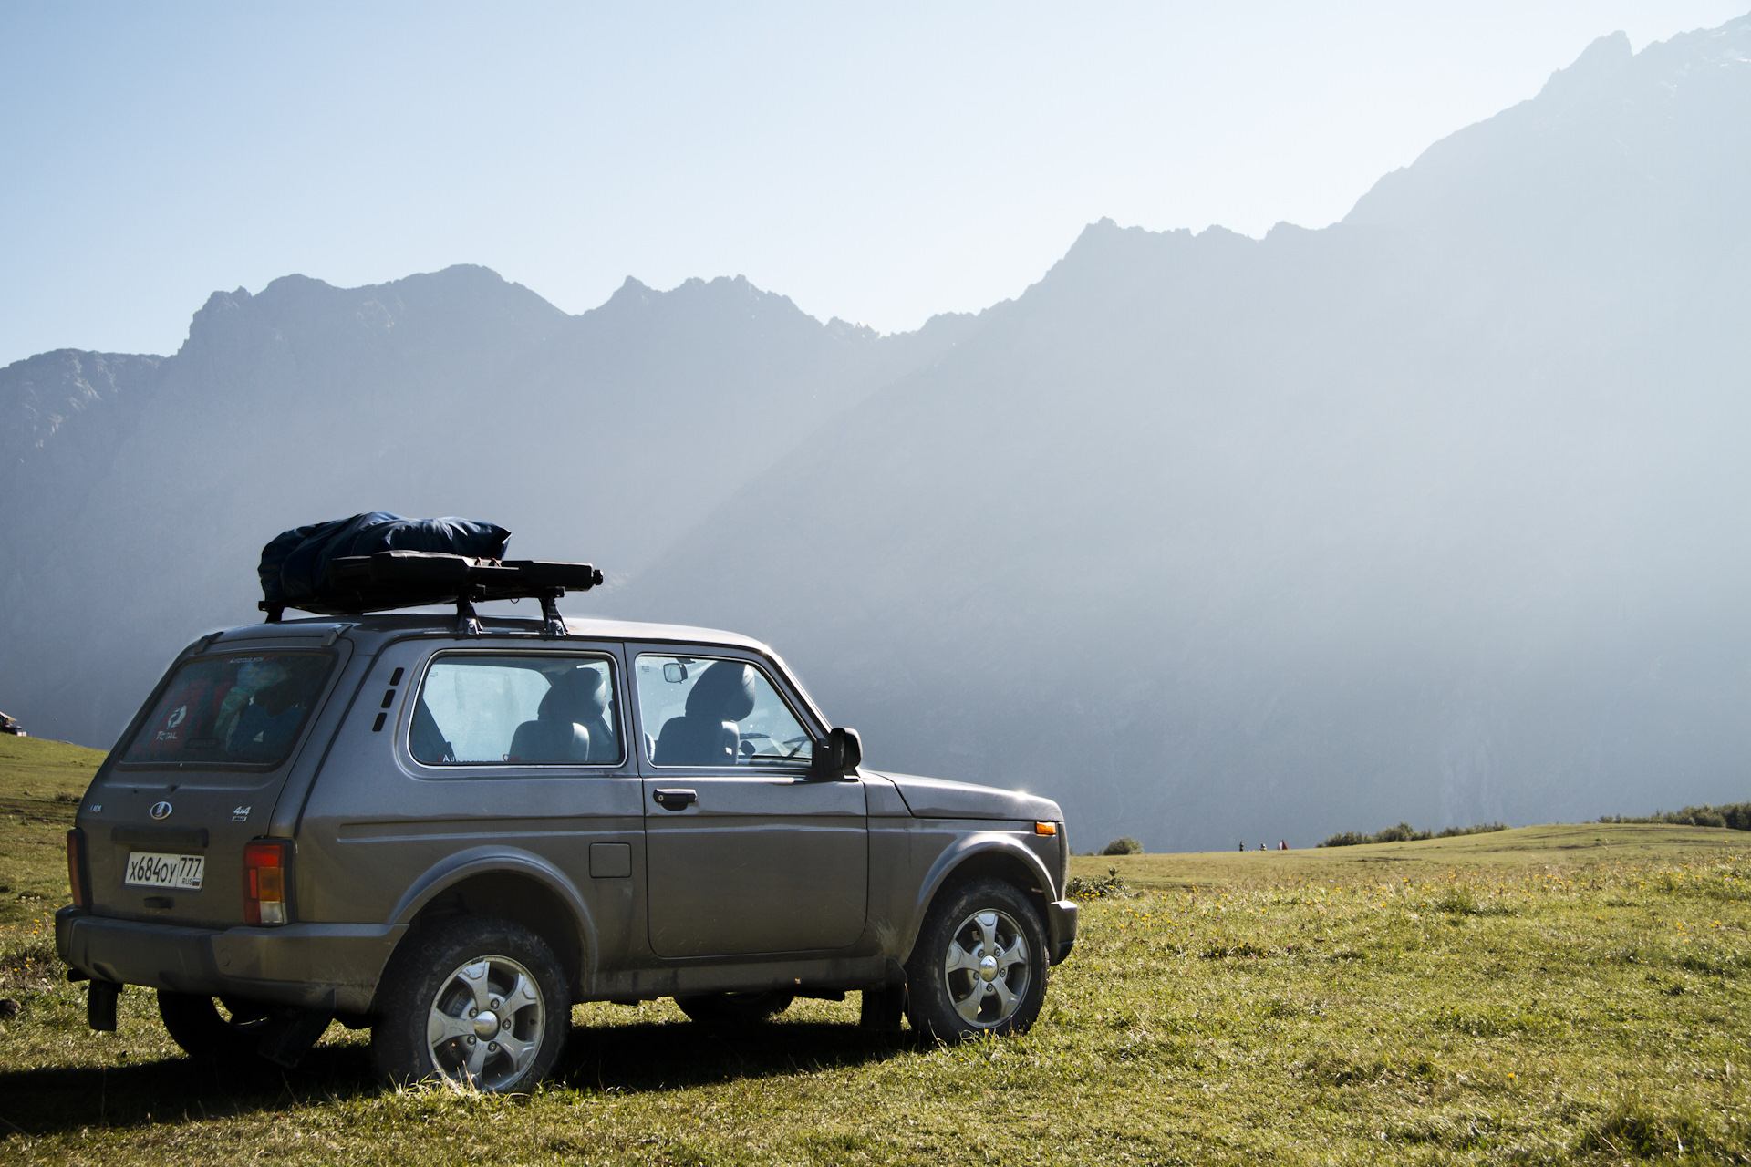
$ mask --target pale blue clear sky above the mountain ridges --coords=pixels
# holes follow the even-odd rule
[[[454,262],[567,311],[746,275],[914,329],[1101,217],[1326,226],[1595,37],[1746,3],[0,0],[0,364]]]

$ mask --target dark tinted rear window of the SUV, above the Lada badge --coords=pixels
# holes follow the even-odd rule
[[[182,661],[121,765],[278,766],[310,719],[333,660],[331,653],[240,653]]]

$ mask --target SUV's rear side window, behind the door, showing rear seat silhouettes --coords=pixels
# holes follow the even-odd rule
[[[613,661],[559,653],[443,653],[413,705],[408,752],[427,766],[611,766]]]

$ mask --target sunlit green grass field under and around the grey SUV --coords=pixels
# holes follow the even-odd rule
[[[340,1027],[294,1073],[219,1076],[140,990],[88,1032],[40,931],[74,751],[0,738],[0,1162],[1751,1162],[1742,833],[1079,857],[1129,894],[1084,905],[1024,1038],[928,1048],[854,999],[741,1034],[590,1004],[555,1081],[494,1099],[378,1088]]]

